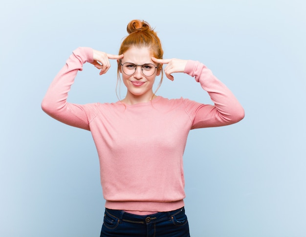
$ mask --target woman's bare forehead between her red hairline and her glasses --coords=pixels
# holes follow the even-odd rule
[[[152,53],[148,47],[131,47],[124,53],[123,62],[130,62],[134,64],[152,63]]]

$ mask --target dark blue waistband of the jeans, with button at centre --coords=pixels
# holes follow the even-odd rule
[[[176,209],[174,211],[169,212],[158,212],[151,215],[135,215],[131,213],[127,213],[121,210],[112,210],[112,209],[105,209],[105,212],[111,215],[114,218],[117,218],[121,221],[133,222],[133,223],[150,223],[150,222],[159,222],[165,219],[171,219],[172,216],[177,215],[181,212],[185,213],[184,207]]]

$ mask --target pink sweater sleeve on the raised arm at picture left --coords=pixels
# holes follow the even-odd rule
[[[89,130],[87,108],[67,102],[70,87],[86,62],[93,62],[92,49],[88,47],[75,49],[49,86],[42,102],[42,109],[60,122]]]

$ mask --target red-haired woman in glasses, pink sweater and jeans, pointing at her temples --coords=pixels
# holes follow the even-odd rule
[[[127,27],[119,54],[79,47],[50,85],[43,110],[51,117],[91,132],[100,160],[106,210],[101,237],[188,237],[184,212],[183,152],[190,129],[239,122],[244,110],[232,92],[203,64],[162,59],[163,50],[147,22]],[[100,75],[117,60],[127,87],[115,103],[67,103],[70,86],[83,64]],[[153,91],[156,76],[183,72],[207,91],[214,105],[188,99],[166,99]],[[160,82],[161,82],[160,81]]]

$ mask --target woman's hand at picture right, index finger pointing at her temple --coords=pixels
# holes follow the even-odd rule
[[[184,72],[187,60],[182,59],[156,59],[152,57],[152,61],[158,64],[167,64],[164,68],[166,76],[173,81],[174,77],[171,75],[174,72]]]

